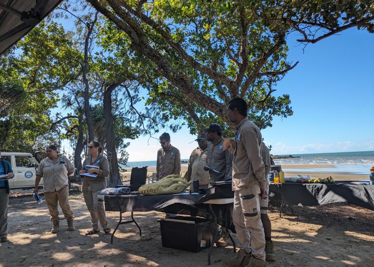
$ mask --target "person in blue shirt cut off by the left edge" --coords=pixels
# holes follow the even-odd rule
[[[13,170],[9,161],[1,159],[0,151],[0,175],[7,175],[6,179],[13,178]],[[0,180],[0,243],[8,241],[8,203],[9,182]]]

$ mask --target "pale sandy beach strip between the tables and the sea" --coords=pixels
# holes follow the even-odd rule
[[[336,166],[334,164],[288,164],[288,165],[282,165],[282,169],[299,169],[299,171],[285,171],[284,175],[286,177],[295,177],[298,174],[302,176],[309,175],[310,178],[318,179],[318,178],[327,178],[331,176],[337,181],[359,181],[359,180],[365,180],[369,179],[369,175],[358,175],[355,173],[350,172],[318,172],[318,169],[332,169]],[[316,171],[310,172],[310,171],[303,171],[305,169],[317,169]],[[187,172],[187,165],[182,165],[181,169],[181,175],[182,177]],[[147,169],[147,176],[151,177],[153,173],[156,173],[156,167],[148,167]],[[121,173],[123,177],[123,181],[130,180],[131,177],[131,168],[127,169],[126,172]]]

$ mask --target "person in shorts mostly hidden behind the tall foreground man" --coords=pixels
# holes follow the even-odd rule
[[[271,222],[269,215],[267,215],[267,208],[269,205],[269,181],[267,179],[267,174],[270,172],[271,159],[270,151],[267,148],[266,144],[262,142],[262,161],[265,166],[265,179],[266,179],[266,194],[260,199],[260,213],[261,213],[261,222],[263,225],[263,231],[265,233],[265,254],[266,261],[275,261],[275,252],[273,241],[271,241]]]

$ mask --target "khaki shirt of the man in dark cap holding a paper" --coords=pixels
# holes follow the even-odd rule
[[[221,137],[216,144],[208,142],[207,165],[220,172],[217,174],[209,170],[210,179],[214,182],[224,180],[231,176],[232,154],[226,149],[222,150],[224,138]]]

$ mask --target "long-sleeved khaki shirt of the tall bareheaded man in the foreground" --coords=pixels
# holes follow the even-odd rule
[[[236,150],[232,161],[232,189],[253,186],[261,193],[266,186],[265,167],[262,162],[262,136],[259,128],[244,118],[235,131]]]

